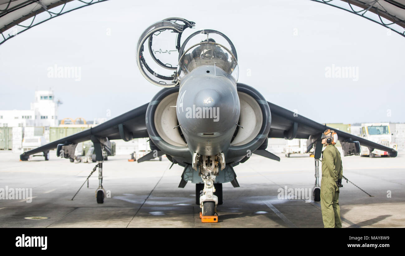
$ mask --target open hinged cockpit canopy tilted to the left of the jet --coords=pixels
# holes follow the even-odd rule
[[[174,87],[181,34],[195,23],[181,18],[168,18],[149,26],[136,47],[137,62],[142,75],[154,85]],[[172,41],[173,40],[173,41]],[[167,42],[173,42],[168,44]]]

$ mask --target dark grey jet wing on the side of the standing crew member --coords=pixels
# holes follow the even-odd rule
[[[358,141],[360,145],[368,147],[369,149],[380,149],[387,151],[392,157],[397,155],[397,151],[390,147],[385,147],[378,143],[363,139],[361,137],[354,136],[347,132],[342,132],[333,127],[326,126],[324,124],[317,123],[298,115],[282,107],[279,107],[271,102],[267,102],[271,111],[271,128],[269,132],[269,138],[285,138],[285,139],[308,139],[307,140],[307,152],[312,148],[312,143],[319,142],[320,136],[324,130],[335,130],[339,141],[354,142]],[[371,151],[372,151],[371,150]],[[315,154],[316,158],[316,154]]]

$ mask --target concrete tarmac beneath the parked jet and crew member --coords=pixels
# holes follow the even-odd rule
[[[32,188],[32,202],[0,199],[0,227],[266,227],[321,228],[319,202],[283,198],[284,189],[310,194],[315,182],[314,159],[308,156],[269,160],[252,155],[235,166],[240,188],[223,184],[224,204],[218,223],[201,223],[195,185],[178,188],[181,166],[167,158],[137,163],[113,156],[103,164],[103,187],[111,192],[97,204],[98,171],[75,199],[72,197],[95,163],[70,163],[50,152],[50,160],[0,151],[0,193],[7,188]],[[396,158],[342,157],[343,175],[368,192],[343,182],[339,204],[343,227],[405,227],[405,154]],[[320,166],[320,172],[321,172]],[[295,195],[296,191],[294,192]],[[290,193],[291,195],[291,193]],[[305,193],[304,193],[305,195]],[[11,197],[11,196],[9,196]],[[0,194],[0,198],[1,194]],[[46,219],[25,219],[47,217]]]

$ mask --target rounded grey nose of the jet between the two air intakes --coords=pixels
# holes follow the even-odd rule
[[[196,76],[180,87],[177,119],[192,152],[211,156],[226,150],[239,114],[237,88],[227,77]]]

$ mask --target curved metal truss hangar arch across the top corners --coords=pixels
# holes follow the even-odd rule
[[[0,0],[0,45],[40,23],[107,0]],[[405,0],[311,0],[359,15],[405,37]]]

